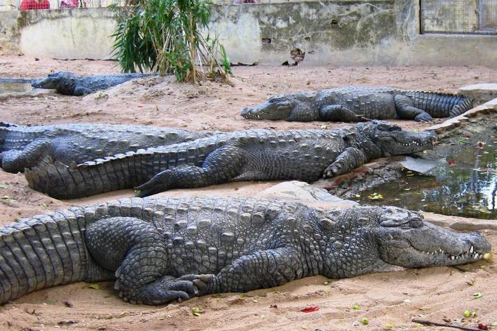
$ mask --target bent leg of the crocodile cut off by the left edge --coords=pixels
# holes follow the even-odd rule
[[[48,138],[35,139],[23,150],[1,153],[1,167],[8,172],[22,172],[25,168],[52,163],[52,144]]]

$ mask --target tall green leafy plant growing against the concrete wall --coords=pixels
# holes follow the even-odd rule
[[[128,0],[117,12],[114,52],[123,72],[175,74],[178,81],[232,75],[226,50],[204,37],[211,3],[204,0]],[[221,60],[221,63],[217,62]]]

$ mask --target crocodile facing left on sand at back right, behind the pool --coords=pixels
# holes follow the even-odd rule
[[[278,94],[240,113],[246,119],[360,122],[369,119],[456,117],[471,109],[471,99],[457,94],[349,86]]]

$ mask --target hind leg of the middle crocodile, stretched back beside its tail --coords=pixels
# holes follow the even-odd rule
[[[138,186],[137,197],[147,197],[171,188],[202,188],[226,183],[242,172],[245,155],[237,146],[223,146],[211,152],[202,167],[186,165],[164,170]]]

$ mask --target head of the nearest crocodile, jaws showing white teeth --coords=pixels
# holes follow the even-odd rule
[[[333,278],[469,263],[491,248],[479,232],[445,230],[397,207],[329,210],[329,219],[336,222],[327,236],[333,241],[324,250],[324,265]]]

